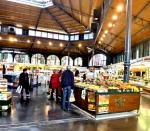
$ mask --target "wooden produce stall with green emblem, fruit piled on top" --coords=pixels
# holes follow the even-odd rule
[[[140,91],[136,86],[117,81],[101,84],[76,83],[76,105],[95,115],[139,110]]]

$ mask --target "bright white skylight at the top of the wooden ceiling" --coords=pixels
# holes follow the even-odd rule
[[[53,5],[52,0],[7,0],[7,1],[36,6],[40,8],[46,8]]]

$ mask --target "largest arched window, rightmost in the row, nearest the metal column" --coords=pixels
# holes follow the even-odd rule
[[[104,54],[94,55],[90,60],[89,66],[106,66],[106,56]]]

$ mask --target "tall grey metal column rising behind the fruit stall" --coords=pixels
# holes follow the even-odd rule
[[[125,60],[124,60],[124,82],[129,82],[130,75],[130,55],[131,55],[131,22],[132,22],[132,0],[126,3],[126,40],[125,40]]]

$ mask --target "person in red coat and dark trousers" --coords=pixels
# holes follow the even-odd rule
[[[62,75],[62,73],[59,73],[57,72],[56,69],[53,70],[53,74],[51,76],[51,80],[50,80],[50,88],[52,88],[52,91],[51,91],[51,98],[50,100],[54,100],[54,90],[56,90],[56,102],[59,102],[59,99],[58,99],[58,88],[60,87],[60,76]]]

